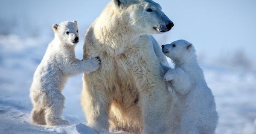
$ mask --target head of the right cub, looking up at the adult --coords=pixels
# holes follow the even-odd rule
[[[196,58],[194,46],[186,40],[177,40],[168,45],[162,45],[163,54],[174,62],[187,62]]]

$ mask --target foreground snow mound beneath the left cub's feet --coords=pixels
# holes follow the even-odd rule
[[[77,123],[67,126],[44,127],[29,123],[29,114],[10,106],[0,106],[1,134],[97,134],[90,127]]]

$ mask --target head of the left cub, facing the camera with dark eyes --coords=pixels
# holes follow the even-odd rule
[[[53,24],[52,29],[61,43],[65,45],[75,46],[79,42],[77,22],[65,21],[60,24]]]

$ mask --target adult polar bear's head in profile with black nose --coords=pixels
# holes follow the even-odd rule
[[[140,34],[160,34],[170,31],[174,24],[152,0],[113,0],[116,10],[128,27]]]

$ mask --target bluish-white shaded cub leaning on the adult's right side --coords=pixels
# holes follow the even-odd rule
[[[179,134],[214,134],[218,122],[214,96],[204,80],[194,46],[177,40],[162,46],[163,53],[172,59],[174,69],[164,76],[177,95],[178,105],[173,117],[180,116]]]

